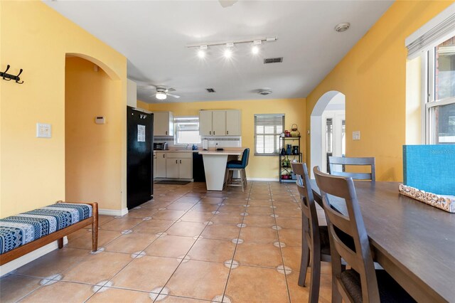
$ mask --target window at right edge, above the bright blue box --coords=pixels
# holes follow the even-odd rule
[[[455,36],[427,52],[426,141],[455,144]]]

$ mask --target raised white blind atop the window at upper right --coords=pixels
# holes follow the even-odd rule
[[[454,35],[455,4],[441,12],[438,16],[424,24],[419,30],[406,38],[407,58],[416,58],[420,53],[445,41]]]

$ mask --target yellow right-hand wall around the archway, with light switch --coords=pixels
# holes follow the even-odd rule
[[[310,129],[310,115],[319,98],[330,90],[342,92],[346,95],[347,156],[375,156],[376,179],[402,181],[402,144],[407,134],[405,38],[452,3],[392,4],[306,98],[306,129]],[[361,139],[353,141],[352,132],[357,130]],[[306,136],[307,154],[309,150],[310,137]]]

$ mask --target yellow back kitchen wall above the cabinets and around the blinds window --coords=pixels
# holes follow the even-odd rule
[[[138,102],[139,103],[139,102]],[[254,115],[282,114],[286,115],[286,129],[297,124],[302,132],[305,125],[305,99],[282,100],[239,100],[217,102],[186,102],[150,104],[151,111],[171,111],[174,116],[199,115],[199,110],[241,110],[242,112],[242,147],[250,147],[250,161],[247,166],[248,178],[278,178],[277,156],[254,155]],[[302,132],[303,135],[303,132]],[[304,139],[301,150],[304,151]]]

